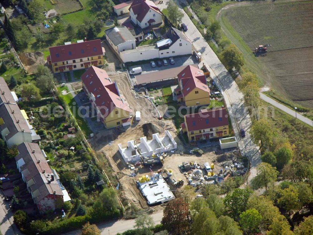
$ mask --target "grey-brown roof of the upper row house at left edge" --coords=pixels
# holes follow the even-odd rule
[[[0,118],[4,121],[0,130],[8,128],[9,131],[6,140],[18,132],[32,133],[3,77],[0,77]]]

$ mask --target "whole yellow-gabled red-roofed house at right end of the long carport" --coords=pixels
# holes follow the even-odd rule
[[[210,104],[210,89],[204,72],[188,65],[178,75],[178,86],[174,90],[177,102],[186,106],[202,106]]]

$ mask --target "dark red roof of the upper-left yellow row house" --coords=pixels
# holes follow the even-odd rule
[[[52,63],[103,55],[100,39],[73,43],[69,45],[52,46],[49,47],[49,51],[50,60]],[[57,57],[57,55],[59,55],[59,57]]]

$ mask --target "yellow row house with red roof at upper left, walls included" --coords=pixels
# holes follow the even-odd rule
[[[65,42],[64,45],[49,47],[48,64],[53,73],[102,66],[105,49],[101,40],[78,40],[77,43]]]

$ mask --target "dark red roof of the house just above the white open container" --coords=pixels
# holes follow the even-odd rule
[[[199,113],[185,115],[188,131],[198,131],[218,126],[228,126],[226,109],[201,109]]]

